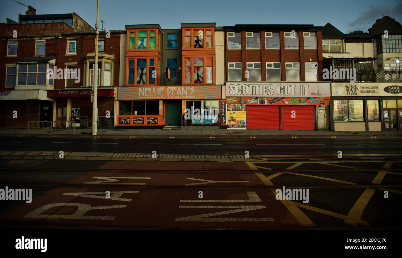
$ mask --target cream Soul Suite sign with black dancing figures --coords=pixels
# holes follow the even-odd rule
[[[333,97],[400,96],[402,83],[332,83]]]

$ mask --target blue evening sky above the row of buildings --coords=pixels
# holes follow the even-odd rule
[[[92,27],[96,0],[16,0],[35,4],[37,14],[75,12]],[[0,22],[18,21],[28,10],[13,0],[0,0]],[[126,24],[159,23],[162,29],[186,22],[234,24],[314,24],[330,22],[343,33],[367,30],[382,16],[402,23],[402,1],[388,0],[100,0],[99,21],[105,30],[124,30]],[[101,25],[100,25],[101,28]]]

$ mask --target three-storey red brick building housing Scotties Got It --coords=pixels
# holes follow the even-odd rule
[[[319,82],[321,30],[311,24],[224,26],[228,128],[328,129],[330,83]]]

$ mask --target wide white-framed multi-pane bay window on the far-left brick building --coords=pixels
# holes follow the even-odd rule
[[[45,63],[18,65],[18,85],[46,85]]]

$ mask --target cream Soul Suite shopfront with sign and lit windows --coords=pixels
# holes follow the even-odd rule
[[[334,131],[402,130],[402,83],[332,83]]]

